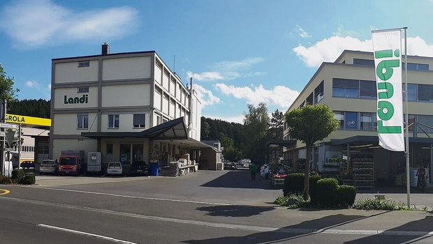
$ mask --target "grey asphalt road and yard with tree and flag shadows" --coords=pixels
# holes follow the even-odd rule
[[[0,185],[0,243],[433,242],[430,213],[287,210],[247,171],[37,183]]]

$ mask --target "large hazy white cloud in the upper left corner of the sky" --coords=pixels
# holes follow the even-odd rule
[[[133,8],[73,13],[50,0],[14,1],[3,8],[0,15],[0,29],[22,48],[120,38],[131,33],[136,22],[138,13]]]

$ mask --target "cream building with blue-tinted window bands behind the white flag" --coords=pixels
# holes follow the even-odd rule
[[[404,59],[403,59],[404,60]],[[419,164],[433,166],[433,58],[408,56],[409,157],[411,175]],[[405,69],[406,66],[403,66]],[[376,120],[376,81],[372,52],[345,50],[333,63],[322,63],[288,111],[304,105],[328,105],[339,121],[338,130],[316,142],[312,166],[324,174],[347,174],[353,184],[402,184],[404,152],[379,146]],[[405,109],[404,109],[404,113]],[[284,130],[284,139],[291,139]],[[302,162],[304,144],[284,150],[284,158]],[[362,169],[360,169],[362,168]],[[403,177],[405,178],[405,176]],[[430,170],[430,179],[432,172]]]

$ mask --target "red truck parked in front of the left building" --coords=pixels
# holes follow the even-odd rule
[[[59,158],[59,174],[80,174],[85,165],[85,151],[64,150]]]

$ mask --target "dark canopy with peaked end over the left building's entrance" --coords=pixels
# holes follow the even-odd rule
[[[82,132],[83,137],[100,138],[149,138],[149,139],[188,139],[184,118],[161,123],[140,132]]]

